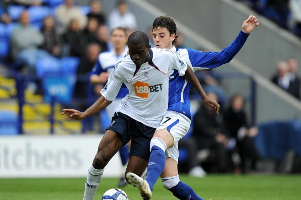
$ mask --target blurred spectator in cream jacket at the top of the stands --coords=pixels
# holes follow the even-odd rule
[[[58,34],[66,32],[71,19],[77,19],[79,29],[83,30],[87,25],[87,17],[74,5],[74,0],[65,0],[65,3],[55,9],[55,20]]]

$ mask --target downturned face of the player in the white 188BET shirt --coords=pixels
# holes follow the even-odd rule
[[[142,65],[150,59],[150,45],[145,47],[145,43],[129,44],[129,56],[135,65]]]

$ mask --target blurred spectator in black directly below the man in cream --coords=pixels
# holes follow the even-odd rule
[[[81,40],[82,32],[79,30],[77,19],[71,19],[68,31],[62,36],[63,41],[63,56],[81,56]]]

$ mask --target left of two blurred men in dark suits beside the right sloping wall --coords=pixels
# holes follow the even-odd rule
[[[288,75],[288,64],[285,61],[278,62],[278,73],[272,77],[272,82],[280,88],[288,91],[290,77]]]

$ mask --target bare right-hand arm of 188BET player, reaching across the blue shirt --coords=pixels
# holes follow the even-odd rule
[[[200,82],[198,81],[198,78],[195,76],[193,70],[188,66],[187,70],[185,72],[185,78],[187,81],[189,81],[193,87],[198,91],[201,98],[203,99],[203,102],[206,106],[209,106],[211,108],[214,108],[214,113],[219,114],[220,105],[215,101],[214,99],[211,99],[207,96],[205,91],[203,90]]]

